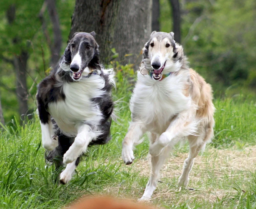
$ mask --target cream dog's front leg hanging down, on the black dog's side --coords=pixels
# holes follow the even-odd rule
[[[145,128],[142,122],[131,122],[123,140],[122,158],[126,165],[130,165],[133,162],[133,145],[140,140],[144,133]]]

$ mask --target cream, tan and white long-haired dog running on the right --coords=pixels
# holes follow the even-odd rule
[[[143,59],[130,100],[129,130],[123,140],[122,158],[133,162],[133,146],[149,132],[151,176],[140,200],[151,198],[159,171],[174,145],[188,139],[189,155],[178,184],[186,187],[194,158],[214,135],[212,89],[188,67],[174,33],[153,31],[143,48]]]

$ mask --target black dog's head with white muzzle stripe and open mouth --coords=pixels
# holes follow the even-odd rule
[[[94,39],[96,33],[77,32],[68,43],[64,52],[63,64],[64,71],[71,71],[73,80],[78,81],[82,77],[83,71],[89,68],[99,68],[99,45]]]

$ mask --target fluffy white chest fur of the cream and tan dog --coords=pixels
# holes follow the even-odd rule
[[[148,131],[164,132],[170,119],[191,105],[191,98],[183,94],[187,78],[184,72],[156,81],[138,73],[130,105],[132,119],[142,121]]]

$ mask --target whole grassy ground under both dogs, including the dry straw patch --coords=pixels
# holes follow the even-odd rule
[[[0,208],[61,208],[90,194],[110,194],[137,200],[149,177],[148,141],[135,150],[135,161],[125,166],[122,139],[130,121],[131,92],[125,81],[115,92],[119,99],[120,124],[113,122],[112,140],[88,149],[77,174],[67,185],[53,181],[54,167],[46,165],[39,121],[35,117],[22,126],[0,133]],[[128,93],[127,93],[128,92]],[[215,138],[190,173],[188,188],[179,191],[188,146],[177,147],[162,169],[152,204],[162,208],[255,208],[256,194],[256,103],[249,98],[224,98],[216,107]],[[192,190],[193,189],[193,190]]]

